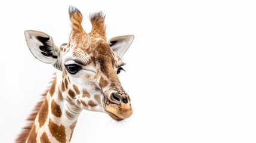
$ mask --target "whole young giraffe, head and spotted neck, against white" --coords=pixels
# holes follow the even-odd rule
[[[124,70],[121,58],[134,36],[118,36],[107,42],[101,11],[90,15],[90,33],[83,29],[83,17],[76,7],[69,7],[69,18],[69,42],[60,46],[47,33],[24,32],[33,56],[57,71],[16,142],[70,142],[82,110],[107,113],[116,121],[132,114],[131,100],[117,74]]]

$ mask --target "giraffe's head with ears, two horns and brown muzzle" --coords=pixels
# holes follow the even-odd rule
[[[121,58],[134,36],[118,36],[106,41],[104,15],[90,15],[92,30],[86,33],[81,25],[82,14],[70,6],[72,30],[69,42],[56,46],[44,32],[27,30],[26,42],[40,61],[62,72],[61,97],[78,108],[101,111],[119,121],[131,116],[131,100],[119,82],[124,63]]]

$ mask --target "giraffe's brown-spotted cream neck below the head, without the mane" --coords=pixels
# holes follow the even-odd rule
[[[70,142],[81,111],[63,99],[61,72],[57,71],[26,142]]]

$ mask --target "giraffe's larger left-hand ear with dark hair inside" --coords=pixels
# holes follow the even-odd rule
[[[27,46],[34,57],[47,64],[57,62],[60,48],[54,44],[50,35],[35,30],[26,30],[24,34]]]

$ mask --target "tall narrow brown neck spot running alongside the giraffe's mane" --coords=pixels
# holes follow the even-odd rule
[[[44,125],[45,121],[47,120],[47,117],[48,117],[48,101],[45,98],[45,100],[39,110],[39,113],[38,113],[39,127]]]

